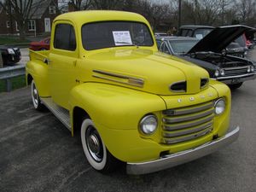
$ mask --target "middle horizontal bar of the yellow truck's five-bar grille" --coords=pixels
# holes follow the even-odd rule
[[[201,125],[201,124],[207,123],[208,121],[212,120],[213,117],[214,117],[214,115],[212,114],[211,116],[209,116],[207,118],[200,119],[200,120],[195,121],[193,123],[189,122],[185,125],[163,125],[163,130],[164,131],[176,131],[176,130],[181,130],[181,129],[193,127],[193,126],[196,126],[196,125]]]

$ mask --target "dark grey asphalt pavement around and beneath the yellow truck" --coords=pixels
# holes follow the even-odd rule
[[[256,51],[250,53],[256,55]],[[29,88],[0,94],[0,191],[256,191],[256,80],[232,92],[235,143],[161,172],[130,176],[94,171],[79,137],[52,113],[32,107]],[[125,153],[125,149],[124,149]]]

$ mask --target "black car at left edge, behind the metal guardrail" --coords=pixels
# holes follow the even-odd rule
[[[2,55],[3,65],[15,64],[21,59],[19,48],[0,45],[0,53]]]

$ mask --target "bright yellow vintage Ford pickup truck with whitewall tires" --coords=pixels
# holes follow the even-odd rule
[[[80,11],[53,22],[50,49],[30,51],[32,103],[46,106],[100,172],[157,172],[232,143],[230,89],[160,53],[142,15]]]

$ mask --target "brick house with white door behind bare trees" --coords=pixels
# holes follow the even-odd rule
[[[35,33],[50,32],[52,21],[57,16],[57,6],[58,0],[41,1],[39,6],[33,6],[32,13],[35,12],[35,14],[29,20],[25,20],[26,34],[34,35]],[[19,26],[13,14],[13,9],[8,7],[3,9],[0,5],[0,34],[19,34]]]

